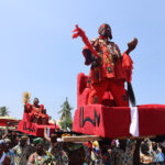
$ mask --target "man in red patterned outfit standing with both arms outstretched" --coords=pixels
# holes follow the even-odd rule
[[[132,89],[131,76],[133,62],[129,53],[135,48],[138,40],[134,38],[130,42],[128,50],[122,55],[118,45],[111,41],[112,32],[109,24],[102,24],[98,31],[99,37],[90,42],[78,25],[76,25],[74,32],[76,33],[73,37],[81,36],[86,44],[82,50],[86,58],[85,64],[91,65],[88,80],[90,84],[88,103],[101,103],[103,94],[110,91],[114,98],[116,106],[129,106],[124,82],[128,81],[130,89]]]

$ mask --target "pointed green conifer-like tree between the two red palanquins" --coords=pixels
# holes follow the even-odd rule
[[[62,129],[69,128],[72,130],[73,129],[73,119],[72,119],[73,108],[70,107],[67,98],[64,101],[64,103],[61,106],[61,108],[62,108],[62,110],[58,111],[58,113],[62,113],[59,124],[61,124]]]

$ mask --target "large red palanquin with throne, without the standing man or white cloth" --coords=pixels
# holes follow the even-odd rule
[[[77,78],[77,110],[73,131],[102,138],[131,136],[130,107],[113,107],[113,97],[105,92],[102,105],[87,105],[88,77],[80,73]],[[165,134],[165,106],[138,106],[139,136]]]

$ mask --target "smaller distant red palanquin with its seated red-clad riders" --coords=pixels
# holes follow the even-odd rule
[[[30,103],[30,94],[23,95],[24,113],[23,119],[19,122],[18,131],[31,134],[34,136],[44,136],[45,127],[50,129],[50,134],[55,130],[59,130],[55,123],[48,123],[48,114],[43,105],[38,105],[38,99],[35,98],[33,105]]]

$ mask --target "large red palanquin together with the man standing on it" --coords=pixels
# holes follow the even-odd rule
[[[128,50],[121,54],[111,41],[112,32],[108,24],[102,24],[99,37],[90,42],[78,25],[74,32],[74,38],[82,38],[85,64],[91,67],[89,76],[80,73],[77,78],[73,131],[109,139],[164,135],[165,105],[135,106],[131,86],[133,62],[129,54],[138,40],[128,43]],[[129,107],[129,99],[132,107]]]

